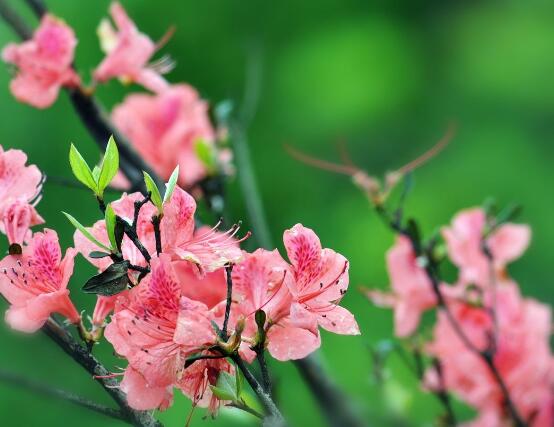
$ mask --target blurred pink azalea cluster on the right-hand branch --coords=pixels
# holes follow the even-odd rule
[[[458,268],[455,283],[433,283],[429,260],[401,234],[386,257],[392,292],[372,290],[369,297],[394,310],[399,338],[414,336],[422,314],[437,308],[432,339],[421,349],[437,362],[426,372],[424,387],[454,393],[474,407],[479,416],[468,425],[552,426],[551,310],[523,297],[507,271],[527,248],[529,227],[495,222],[474,208],[456,215],[442,237]]]

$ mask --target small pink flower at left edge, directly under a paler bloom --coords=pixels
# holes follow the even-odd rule
[[[22,245],[31,238],[30,228],[43,223],[44,219],[33,205],[23,200],[16,200],[4,211],[2,225],[3,231],[8,236],[8,242]]]

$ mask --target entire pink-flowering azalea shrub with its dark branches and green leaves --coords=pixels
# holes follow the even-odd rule
[[[69,93],[103,157],[94,164],[71,144],[60,167],[70,168],[91,194],[98,218],[83,225],[71,203],[63,206],[75,232],[72,247],[62,248],[40,215],[48,177],[21,150],[0,147],[0,231],[9,247],[0,261],[6,323],[25,333],[45,331],[111,394],[117,417],[134,425],[161,425],[152,410],[169,408],[175,393],[214,417],[232,407],[263,425],[288,425],[267,356],[297,361],[321,410],[333,414],[330,425],[373,424],[360,418],[329,373],[307,365],[322,345],[321,330],[360,334],[355,315],[341,305],[349,260],[302,224],[283,230],[280,252],[258,240],[263,231],[243,230],[240,218],[206,223],[197,212],[202,204],[220,214],[214,196],[221,204],[235,167],[249,166],[233,164],[230,142],[238,136],[225,108],[216,114],[193,87],[170,83],[169,57],[153,59],[171,31],[154,42],[113,3],[111,21],[98,26],[105,57],[85,84],[89,77],[75,63],[75,32],[45,9],[38,13],[32,33],[8,19],[25,39],[2,52],[14,70],[10,91],[39,109]],[[103,114],[95,90],[112,79],[140,89]],[[412,174],[448,138],[383,183],[353,164],[290,152],[349,175],[396,234],[385,257],[390,291],[362,290],[373,305],[393,310],[396,339],[372,350],[375,363],[400,352],[422,392],[441,403],[441,425],[551,427],[551,310],[525,297],[508,271],[529,245],[530,227],[514,223],[516,208],[487,203],[426,237],[405,213]],[[252,212],[260,213],[256,206]],[[246,242],[254,249],[246,250]],[[76,257],[97,269],[82,289],[71,281]],[[75,292],[96,296],[92,312],[75,304]],[[112,348],[120,368],[107,370],[93,354],[96,346]],[[459,402],[475,410],[474,419],[459,418]]]

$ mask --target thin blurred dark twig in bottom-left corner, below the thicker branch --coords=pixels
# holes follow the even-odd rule
[[[8,372],[5,370],[0,370],[0,382],[9,384],[16,387],[21,387],[23,389],[29,390],[33,393],[53,397],[56,399],[65,400],[71,402],[75,405],[81,406],[91,411],[98,412],[100,414],[106,415],[111,418],[115,418],[122,421],[127,421],[126,416],[117,409],[110,408],[108,406],[102,405],[100,403],[93,402],[83,396],[71,393],[66,390],[55,388],[47,384],[40,383],[38,381],[26,378],[24,376],[15,374],[13,372]]]

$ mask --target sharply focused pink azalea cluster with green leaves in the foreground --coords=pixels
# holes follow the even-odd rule
[[[89,170],[97,198],[99,186],[117,171],[115,147],[110,141],[98,182]],[[73,171],[88,182],[79,156],[72,147]],[[28,213],[35,212],[28,203],[40,191],[38,169],[18,150],[2,152],[0,161],[4,230],[14,243],[0,261],[0,293],[10,303],[6,321],[34,332],[57,313],[91,344],[104,331],[128,362],[114,376],[122,376],[120,388],[134,409],[163,410],[179,389],[215,413],[227,399],[213,390],[222,373],[235,372],[233,357],[251,363],[267,349],[281,361],[304,358],[319,348],[320,327],[359,334],[352,314],[339,305],[348,288],[348,261],[322,248],[309,228],[297,224],[285,231],[288,261],[277,250],[245,252],[240,243],[249,235],[238,238],[238,226],[225,232],[219,224],[196,226],[196,201],[175,185],[176,169],[163,200],[147,179],[146,196],[99,203],[105,218],[92,227],[68,215],[77,226],[75,247],[62,257],[55,231],[30,229],[40,218]],[[28,206],[27,214],[14,217],[14,205]],[[99,270],[83,288],[98,295],[90,330],[67,289],[77,254]]]

